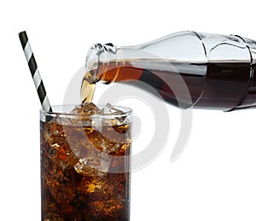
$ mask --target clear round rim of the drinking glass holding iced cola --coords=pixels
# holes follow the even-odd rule
[[[81,115],[86,115],[86,114],[81,114],[81,113],[69,113],[69,112],[65,112],[65,110],[63,108],[71,108],[69,111],[72,110],[72,108],[76,108],[77,106],[79,106],[79,104],[61,104],[61,105],[53,105],[51,106],[51,108],[53,109],[53,111],[45,111],[43,108],[40,108],[39,111],[40,113],[44,114],[44,115],[61,115],[61,116],[81,116]],[[96,107],[102,109],[104,108],[106,105],[96,105]],[[121,113],[93,113],[87,117],[90,118],[95,118],[95,117],[102,117],[102,118],[106,118],[106,117],[122,117],[122,116],[130,116],[132,114],[132,109],[131,108],[126,108],[124,106],[119,106],[119,105],[113,105],[113,108],[117,108],[119,109],[119,111],[121,111]],[[55,111],[55,109],[57,109]],[[62,110],[62,111],[61,111]]]

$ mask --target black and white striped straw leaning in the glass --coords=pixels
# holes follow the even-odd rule
[[[46,95],[44,84],[38,70],[38,65],[33,55],[32,48],[29,44],[26,32],[25,31],[20,32],[19,38],[20,38],[20,43],[22,45],[22,49],[24,50],[24,54],[26,56],[28,67],[32,74],[32,79],[34,81],[36,89],[38,90],[38,96],[39,96],[42,108],[44,109],[44,111],[52,112],[52,108],[50,107],[49,99],[48,99],[48,96]]]

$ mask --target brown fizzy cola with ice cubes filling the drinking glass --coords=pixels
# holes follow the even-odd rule
[[[130,130],[129,124],[103,125],[96,131],[62,125],[61,119],[41,122],[42,220],[129,220],[130,173],[114,173],[115,168],[129,168],[129,160],[108,161],[107,171],[90,163],[103,168],[102,152],[130,155]]]

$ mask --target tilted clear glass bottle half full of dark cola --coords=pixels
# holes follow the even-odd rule
[[[131,47],[95,44],[86,61],[90,74],[84,78],[135,84],[179,108],[252,108],[255,45],[238,36],[196,32],[177,32]]]

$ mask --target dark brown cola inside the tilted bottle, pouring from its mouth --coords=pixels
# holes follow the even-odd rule
[[[230,110],[245,99],[250,70],[247,62],[118,61],[100,64],[85,74],[84,81],[97,71],[96,81],[133,84],[180,108]],[[84,87],[85,83],[82,101],[91,97]]]

